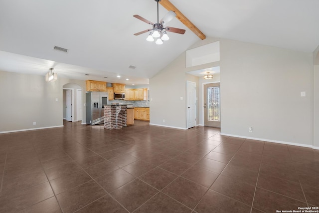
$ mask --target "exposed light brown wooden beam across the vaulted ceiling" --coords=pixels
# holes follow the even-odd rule
[[[183,13],[181,13],[169,0],[160,0],[160,5],[165,7],[168,11],[172,10],[176,13],[176,18],[180,20],[185,26],[193,31],[200,39],[204,40],[206,36],[202,33]]]

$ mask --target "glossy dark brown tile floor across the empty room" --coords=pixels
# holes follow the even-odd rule
[[[136,121],[0,135],[1,213],[275,213],[319,206],[319,151]]]

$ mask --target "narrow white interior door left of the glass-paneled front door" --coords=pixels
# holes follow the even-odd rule
[[[196,83],[187,81],[187,128],[196,126]]]

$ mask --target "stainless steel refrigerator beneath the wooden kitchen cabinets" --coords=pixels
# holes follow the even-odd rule
[[[86,124],[104,123],[104,105],[109,101],[107,92],[86,92]]]

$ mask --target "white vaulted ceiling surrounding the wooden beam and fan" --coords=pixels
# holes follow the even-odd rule
[[[170,2],[209,37],[306,52],[319,45],[319,0]],[[166,12],[160,5],[160,19]],[[164,44],[148,42],[147,33],[133,35],[151,28],[134,14],[157,22],[156,1],[0,0],[0,70],[44,76],[53,67],[58,77],[147,84],[199,40],[174,18],[167,25],[186,29],[184,35],[168,32]]]

